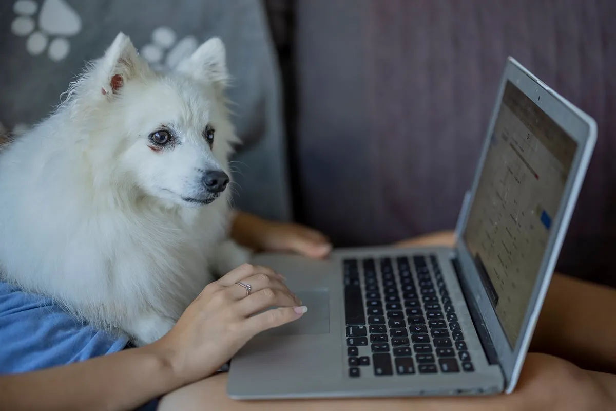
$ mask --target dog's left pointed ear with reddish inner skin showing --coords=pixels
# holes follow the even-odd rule
[[[114,94],[126,81],[137,75],[140,60],[137,49],[124,33],[116,36],[111,46],[97,63],[97,80],[102,94]]]

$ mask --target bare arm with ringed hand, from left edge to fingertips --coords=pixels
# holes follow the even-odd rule
[[[235,282],[249,283],[246,296]],[[245,265],[209,284],[161,340],[143,348],[0,376],[0,408],[127,410],[216,370],[252,336],[301,317],[305,308],[266,269]],[[260,312],[267,307],[280,308]]]

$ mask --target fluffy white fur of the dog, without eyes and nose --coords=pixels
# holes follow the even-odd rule
[[[137,344],[168,332],[215,273],[249,258],[225,237],[228,188],[208,205],[182,199],[206,195],[204,170],[230,174],[226,81],[220,39],[163,74],[120,33],[55,113],[0,153],[4,278]],[[161,127],[177,142],[156,151],[148,136]]]

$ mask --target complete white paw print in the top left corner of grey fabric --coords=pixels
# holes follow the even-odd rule
[[[81,31],[81,18],[67,2],[44,0],[39,9],[38,2],[34,0],[17,0],[13,11],[17,17],[11,23],[10,30],[15,36],[28,36],[26,51],[30,55],[39,55],[47,50],[47,55],[55,62],[67,57],[70,51],[67,37]],[[39,12],[38,25],[36,12]]]

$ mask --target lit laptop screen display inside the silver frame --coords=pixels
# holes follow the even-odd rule
[[[464,242],[516,345],[577,143],[508,81]]]

